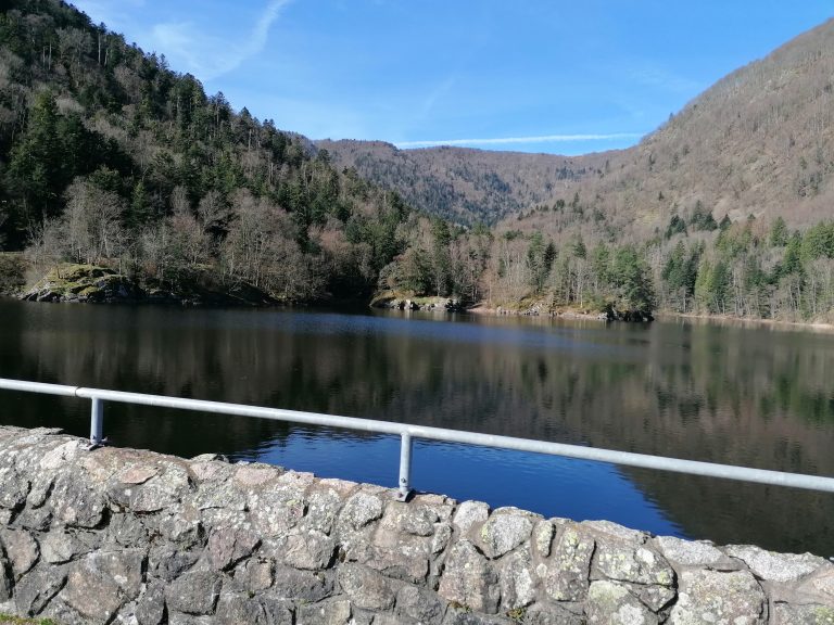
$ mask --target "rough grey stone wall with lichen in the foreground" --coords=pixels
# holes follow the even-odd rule
[[[0,612],[80,623],[834,623],[834,564],[0,428]]]

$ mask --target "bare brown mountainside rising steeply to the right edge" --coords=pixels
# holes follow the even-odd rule
[[[834,201],[833,89],[829,21],[724,77],[560,196],[579,193],[627,237],[696,206],[716,220],[781,216],[808,226],[830,217]]]

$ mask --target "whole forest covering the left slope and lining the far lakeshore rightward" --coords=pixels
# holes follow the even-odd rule
[[[543,312],[834,321],[834,222],[798,231],[782,217],[717,221],[696,205],[627,242],[578,193],[534,209],[572,224],[561,237],[456,222],[206,94],[71,5],[9,4],[0,235],[30,281],[77,263],[174,290],[247,284],[285,303],[390,291]]]

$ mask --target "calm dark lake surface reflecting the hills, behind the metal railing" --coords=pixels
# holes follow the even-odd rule
[[[834,335],[691,322],[0,301],[0,377],[366,417],[834,475]],[[86,435],[89,401],[0,393]],[[119,446],[395,485],[399,439],[106,405]],[[834,497],[416,443],[421,490],[657,534],[834,556]]]

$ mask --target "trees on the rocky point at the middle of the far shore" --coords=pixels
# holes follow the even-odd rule
[[[657,296],[645,250],[581,237],[557,246],[541,232],[500,234],[434,219],[413,231],[407,250],[380,275],[380,288],[485,302],[493,307],[652,311]]]

